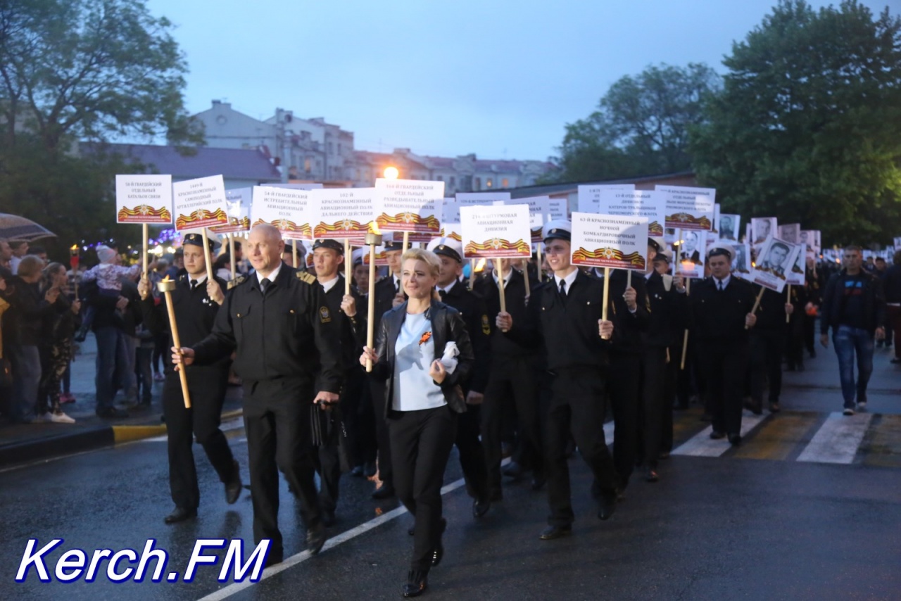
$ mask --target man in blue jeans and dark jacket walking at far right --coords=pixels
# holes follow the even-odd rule
[[[820,341],[829,346],[829,330],[833,331],[835,354],[839,358],[844,414],[867,407],[867,384],[873,372],[874,336],[886,335],[886,300],[879,278],[863,269],[860,246],[844,250],[844,269],[826,283],[823,295],[823,317]],[[857,358],[857,382],[854,381],[854,359]]]

